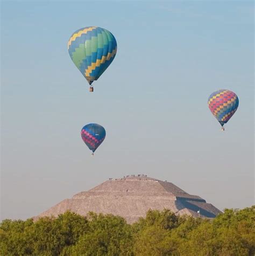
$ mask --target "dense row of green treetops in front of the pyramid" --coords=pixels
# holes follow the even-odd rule
[[[215,219],[148,211],[122,217],[66,212],[58,218],[3,220],[1,255],[255,255],[255,206]]]

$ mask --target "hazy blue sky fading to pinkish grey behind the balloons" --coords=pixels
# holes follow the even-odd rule
[[[2,219],[36,216],[108,179],[167,179],[218,209],[254,202],[253,1],[2,1]],[[94,93],[67,51],[84,26],[114,34]],[[221,132],[207,106],[230,89]],[[95,157],[80,131],[107,136]]]

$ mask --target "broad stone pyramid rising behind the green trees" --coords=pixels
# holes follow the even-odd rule
[[[203,198],[189,195],[171,182],[146,175],[128,175],[123,178],[109,178],[93,189],[62,200],[35,219],[44,216],[57,217],[69,210],[82,216],[90,211],[111,213],[133,223],[140,217],[145,217],[150,209],[169,209],[176,215],[204,218],[214,218],[221,212]]]

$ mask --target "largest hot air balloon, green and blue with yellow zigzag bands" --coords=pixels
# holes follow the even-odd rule
[[[113,34],[102,27],[89,26],[75,31],[68,41],[68,51],[75,66],[90,85],[100,78],[114,60],[117,42]]]

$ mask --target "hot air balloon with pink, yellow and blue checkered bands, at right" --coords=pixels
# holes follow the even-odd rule
[[[238,108],[239,100],[234,92],[221,89],[209,96],[208,106],[224,130],[224,124],[229,121]]]

